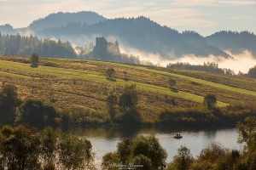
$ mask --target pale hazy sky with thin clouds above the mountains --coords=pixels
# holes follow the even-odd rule
[[[202,36],[221,30],[256,33],[256,0],[0,0],[0,25],[26,27],[51,13],[82,10],[108,19],[143,15],[161,26]]]

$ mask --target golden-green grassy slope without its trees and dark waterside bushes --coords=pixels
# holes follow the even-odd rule
[[[40,59],[36,68],[28,62],[29,58],[0,56],[0,82],[15,84],[21,99],[42,99],[70,111],[105,111],[108,94],[120,95],[125,84],[137,85],[143,122],[152,122],[164,108],[200,106],[206,94],[215,94],[219,107],[256,100],[253,79],[79,59]],[[110,67],[116,71],[113,82],[106,77]],[[220,80],[211,81],[213,76]],[[175,90],[169,88],[170,78],[177,82]]]

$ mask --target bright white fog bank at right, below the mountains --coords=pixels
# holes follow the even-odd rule
[[[247,73],[249,68],[252,68],[256,65],[256,56],[248,51],[244,50],[241,54],[232,54],[230,51],[225,51],[230,54],[232,58],[224,58],[223,56],[214,56],[210,54],[207,57],[203,56],[195,56],[195,54],[186,54],[182,57],[175,57],[172,53],[170,53],[169,59],[164,58],[160,54],[152,54],[140,51],[135,48],[126,48],[121,46],[121,52],[126,54],[138,55],[141,60],[147,60],[154,65],[166,67],[169,63],[177,63],[177,62],[186,62],[191,65],[203,65],[204,62],[215,62],[218,63],[219,68],[227,68],[235,71],[237,74],[239,71],[243,73]]]

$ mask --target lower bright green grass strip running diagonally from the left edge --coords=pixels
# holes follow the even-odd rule
[[[125,84],[136,84],[137,88],[141,88],[143,90],[152,91],[160,94],[168,94],[175,97],[183,98],[183,99],[189,99],[193,100],[195,102],[202,103],[203,97],[195,95],[195,94],[189,94],[185,93],[183,91],[177,91],[172,92],[169,88],[164,88],[160,86],[150,85],[143,82],[125,82],[122,79],[116,79],[116,82],[111,82],[106,79],[105,76],[100,75],[96,71],[80,71],[80,70],[74,70],[74,69],[63,69],[63,68],[55,68],[55,67],[49,67],[49,66],[43,66],[39,65],[37,68],[32,68],[29,64],[23,64],[23,63],[17,63],[17,62],[11,62],[11,61],[4,61],[2,60],[0,63],[0,68],[6,69],[6,70],[12,70],[12,71],[18,71],[22,72],[23,74],[26,73],[29,74],[38,74],[39,75],[50,75],[54,77],[72,77],[72,78],[83,78],[93,81],[99,81],[99,82],[108,82],[108,83],[115,83],[118,85],[124,86]],[[156,71],[159,72],[159,71]],[[162,73],[162,71],[161,71]],[[11,73],[8,73],[11,74]],[[14,76],[15,73],[13,73]],[[178,77],[179,75],[177,75]],[[24,76],[22,76],[24,77]],[[200,80],[199,80],[200,81]],[[218,106],[225,106],[224,102],[218,101]]]

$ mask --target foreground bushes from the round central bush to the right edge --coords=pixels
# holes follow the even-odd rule
[[[117,150],[102,157],[103,169],[119,167],[137,167],[136,169],[165,170],[241,170],[255,169],[255,128],[256,117],[248,116],[246,123],[237,123],[239,138],[243,144],[241,150],[230,150],[221,143],[209,144],[198,156],[192,156],[189,148],[181,145],[177,155],[166,163],[166,151],[161,148],[154,135],[139,136],[137,139],[123,139],[117,144]],[[154,148],[154,150],[152,150]]]

